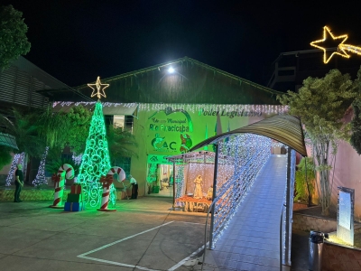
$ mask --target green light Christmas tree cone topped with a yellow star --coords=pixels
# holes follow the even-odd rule
[[[97,87],[96,94],[94,94],[96,90],[92,88],[94,90],[92,97],[95,95],[97,95],[98,98],[100,98],[100,96],[106,97],[104,89],[109,85],[101,84],[99,78],[97,78],[96,84],[88,84],[88,86],[90,88],[92,88],[92,86]],[[110,168],[103,106],[100,100],[98,100],[93,117],[91,118],[87,144],[81,159],[77,180],[77,182],[83,186],[84,201],[88,207],[97,208],[100,205],[103,187],[99,180],[101,176],[106,176]],[[109,201],[110,205],[114,206],[116,204],[116,189],[113,184],[110,186]]]

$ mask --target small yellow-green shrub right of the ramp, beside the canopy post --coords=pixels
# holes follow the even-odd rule
[[[306,161],[306,163],[305,163]],[[315,165],[312,157],[303,157],[296,171],[296,200],[308,201],[311,205],[311,197],[315,189]]]

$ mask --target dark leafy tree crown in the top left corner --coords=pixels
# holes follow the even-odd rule
[[[23,13],[15,10],[13,5],[0,7],[0,71],[30,51],[31,44],[26,37],[28,27],[22,16]]]

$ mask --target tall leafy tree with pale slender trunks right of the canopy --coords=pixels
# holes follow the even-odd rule
[[[343,117],[357,96],[356,82],[348,74],[330,70],[323,78],[303,80],[299,92],[289,90],[277,97],[283,105],[290,107],[289,113],[301,117],[310,137],[316,170],[319,172],[319,201],[322,214],[329,215],[333,177],[329,171],[335,163],[339,140],[349,140],[350,125]]]

